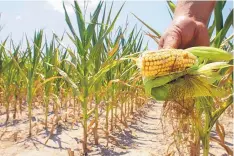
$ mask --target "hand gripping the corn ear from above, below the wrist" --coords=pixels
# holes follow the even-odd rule
[[[209,46],[209,34],[204,23],[186,16],[176,17],[159,40],[159,49],[192,46]]]

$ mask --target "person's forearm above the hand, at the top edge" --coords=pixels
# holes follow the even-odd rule
[[[207,25],[215,1],[178,1],[174,17],[186,16]]]

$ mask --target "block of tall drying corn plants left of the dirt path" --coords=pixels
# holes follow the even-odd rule
[[[0,98],[5,109],[7,126],[12,113],[26,111],[29,118],[28,135],[32,136],[33,110],[40,105],[44,109],[44,128],[48,128],[48,115],[54,113],[53,123],[59,120],[81,122],[83,125],[83,150],[87,152],[87,137],[93,129],[95,144],[98,130],[107,137],[117,124],[126,125],[126,118],[145,103],[139,72],[125,55],[142,50],[143,35],[134,28],[128,38],[119,28],[113,38],[112,31],[122,7],[110,19],[111,11],[100,2],[91,22],[86,24],[78,3],[74,2],[79,32],[65,10],[65,19],[75,49],[65,47],[63,38],[54,34],[46,40],[43,30],[36,31],[32,42],[26,37],[27,48],[6,39],[0,50]],[[98,21],[101,19],[101,21]],[[96,23],[102,23],[98,25]],[[5,44],[10,42],[11,49]],[[124,95],[124,96],[123,96]],[[105,110],[105,112],[103,112]],[[99,125],[99,116],[105,113],[105,126]],[[54,129],[54,127],[51,127]]]

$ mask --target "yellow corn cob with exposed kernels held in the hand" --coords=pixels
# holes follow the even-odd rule
[[[159,77],[184,71],[195,64],[197,57],[180,49],[146,51],[138,59],[138,67],[145,77]]]

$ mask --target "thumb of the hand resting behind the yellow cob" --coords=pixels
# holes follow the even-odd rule
[[[171,32],[164,37],[163,48],[164,49],[170,49],[170,48],[177,49],[179,48],[180,43],[181,43],[181,37],[179,36],[179,34]]]

